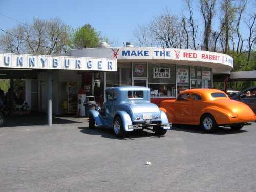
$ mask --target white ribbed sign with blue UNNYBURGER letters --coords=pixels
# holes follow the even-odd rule
[[[1,68],[116,71],[116,59],[0,53]]]

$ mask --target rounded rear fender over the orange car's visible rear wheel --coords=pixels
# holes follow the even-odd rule
[[[230,113],[224,111],[221,108],[218,108],[216,106],[208,106],[207,108],[204,108],[201,111],[200,118],[202,117],[203,114],[209,113],[212,116],[214,116],[215,121],[217,124],[222,125],[222,124],[230,124]],[[198,123],[200,124],[200,119],[198,120]]]

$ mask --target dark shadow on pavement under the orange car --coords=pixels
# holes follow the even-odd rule
[[[196,125],[181,125],[181,124],[173,124],[172,130],[190,132],[190,133],[199,133],[199,134],[212,134],[212,135],[226,135],[226,134],[237,134],[244,133],[247,130],[232,130],[229,127],[219,127],[215,132],[205,132],[201,129],[200,126]]]

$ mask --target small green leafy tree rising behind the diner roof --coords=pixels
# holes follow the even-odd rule
[[[93,48],[99,45],[100,32],[97,32],[90,24],[86,24],[74,32],[73,48]]]

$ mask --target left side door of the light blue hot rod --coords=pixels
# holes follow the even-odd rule
[[[109,124],[109,126],[112,126],[113,115],[113,92],[106,91],[106,102],[104,103],[102,116]]]

